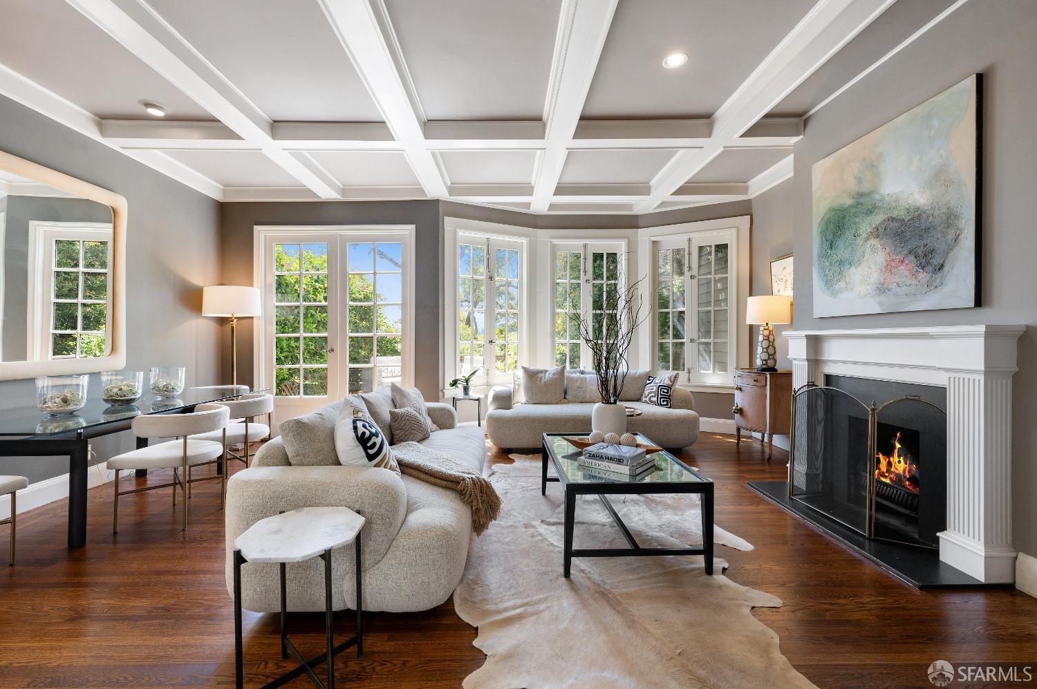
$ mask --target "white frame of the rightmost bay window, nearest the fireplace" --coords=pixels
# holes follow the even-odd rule
[[[750,331],[749,325],[746,324],[746,300],[750,294],[749,230],[750,217],[741,216],[737,218],[645,228],[639,231],[639,272],[640,275],[650,276],[652,298],[655,296],[654,287],[657,280],[655,266],[655,261],[657,260],[656,250],[661,245],[683,241],[685,246],[690,245],[693,251],[699,246],[716,243],[718,241],[727,241],[730,245],[728,256],[728,304],[731,305],[729,309],[730,320],[728,321],[730,337],[728,348],[729,368],[724,373],[698,375],[695,367],[688,365],[688,362],[693,360],[688,354],[686,347],[689,344],[686,341],[690,338],[695,338],[698,333],[697,312],[695,309],[698,298],[698,287],[695,285],[691,291],[685,292],[685,365],[677,380],[677,384],[680,387],[698,393],[732,392],[734,390],[733,374],[737,369],[746,368],[749,365]],[[688,276],[692,275],[692,267],[694,267],[693,259],[690,256],[685,268]],[[695,281],[691,282],[694,283]],[[654,302],[650,305],[650,309],[651,316],[641,326],[640,339],[647,346],[643,348],[639,361],[642,368],[655,370],[658,346],[656,337],[656,307]]]

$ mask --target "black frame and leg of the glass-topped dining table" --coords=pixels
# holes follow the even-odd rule
[[[199,404],[201,404],[199,402]],[[187,413],[193,411],[195,404],[170,409],[169,411],[153,411],[153,415]],[[68,457],[68,547],[82,548],[86,545],[86,488],[87,466],[90,459],[90,440],[103,435],[129,431],[133,418],[96,424],[65,433],[53,435],[30,435],[11,438],[0,436],[0,457]],[[137,438],[137,448],[146,448],[147,438]],[[223,471],[217,464],[217,471]],[[138,477],[146,476],[146,469],[139,469]]]

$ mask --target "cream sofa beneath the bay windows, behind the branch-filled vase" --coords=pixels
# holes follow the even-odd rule
[[[510,387],[489,391],[486,411],[486,435],[504,451],[539,449],[543,433],[589,433],[590,412],[594,402],[558,404],[515,404]],[[641,433],[663,448],[686,448],[699,439],[699,414],[691,392],[674,387],[673,407],[664,408],[644,402],[620,402],[640,409],[640,417],[626,420],[626,430]]]

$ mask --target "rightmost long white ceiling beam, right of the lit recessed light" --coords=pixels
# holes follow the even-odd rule
[[[652,180],[652,194],[638,211],[654,208],[719,155],[726,142],[742,137],[893,2],[819,0],[717,111],[713,140],[698,150],[677,153],[665,174]]]

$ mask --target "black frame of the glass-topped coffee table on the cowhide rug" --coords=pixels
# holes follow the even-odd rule
[[[691,471],[691,467],[681,462],[676,457],[667,453],[670,461],[677,462],[684,469]],[[548,458],[555,467],[555,472],[562,475],[562,468],[558,465],[555,456],[548,449],[548,440],[543,439],[541,449],[541,470],[540,470],[540,494],[548,492],[548,483],[561,483],[565,490],[565,521],[564,521],[564,546],[562,548],[563,574],[569,576],[569,570],[573,557],[658,557],[662,555],[703,555],[705,573],[712,574],[713,564],[713,484],[711,481],[701,483],[566,483],[557,477],[548,476]],[[644,548],[630,529],[626,527],[623,520],[616,514],[616,510],[609,503],[606,495],[669,495],[675,493],[697,493],[702,496],[702,547],[701,548]],[[626,541],[628,548],[572,548],[572,533],[574,529],[577,514],[578,495],[597,495],[601,505],[612,516],[612,520],[619,527]]]

